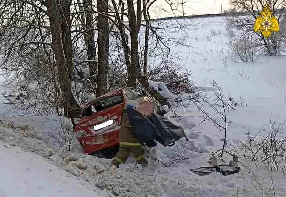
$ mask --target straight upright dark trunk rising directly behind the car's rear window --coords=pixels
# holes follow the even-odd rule
[[[108,12],[108,0],[97,0],[97,88],[96,95],[100,96],[106,93],[107,76],[108,76],[108,55],[109,55],[109,28],[108,17],[105,16]]]

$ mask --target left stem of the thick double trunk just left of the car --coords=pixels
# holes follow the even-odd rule
[[[69,77],[70,71],[69,71],[69,62],[67,62],[67,59],[68,61],[71,61],[70,57],[72,57],[72,54],[67,54],[67,58],[65,56],[65,53],[67,53],[68,50],[64,49],[64,45],[62,42],[64,40],[62,36],[64,36],[65,33],[61,32],[62,30],[61,24],[60,24],[61,10],[59,10],[59,7],[57,6],[57,1],[47,0],[47,8],[48,8],[50,30],[52,34],[52,48],[55,54],[58,79],[60,83],[61,96],[62,96],[63,105],[64,105],[63,106],[64,115],[66,117],[69,117],[69,110],[80,107],[74,98],[74,95],[71,89],[71,81]]]

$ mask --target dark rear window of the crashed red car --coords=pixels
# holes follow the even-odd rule
[[[84,110],[83,116],[91,116],[94,113],[91,110],[92,106],[94,106],[94,109],[96,110],[96,112],[100,112],[102,110],[108,109],[108,108],[113,107],[113,106],[120,104],[120,103],[122,103],[122,96],[121,95],[116,95],[116,96],[104,98],[100,101],[93,103],[89,107],[87,107]]]

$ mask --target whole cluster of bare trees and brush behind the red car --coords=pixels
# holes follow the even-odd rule
[[[6,98],[40,114],[62,115],[63,109],[69,117],[82,105],[79,92],[100,96],[116,87],[134,87],[136,81],[148,87],[148,58],[159,53],[160,68],[170,58],[171,40],[158,35],[159,24],[150,23],[155,3],[0,0],[0,68],[16,92]],[[140,33],[144,43],[139,43]],[[156,40],[152,53],[151,37]]]

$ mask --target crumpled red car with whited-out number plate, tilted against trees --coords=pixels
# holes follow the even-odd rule
[[[112,158],[119,148],[119,128],[123,107],[136,104],[141,113],[154,111],[153,103],[130,87],[120,88],[106,93],[88,102],[80,113],[74,132],[83,147],[84,153],[102,154]],[[98,154],[100,153],[100,154]]]

